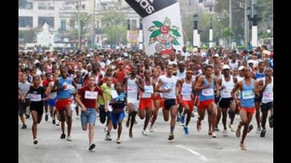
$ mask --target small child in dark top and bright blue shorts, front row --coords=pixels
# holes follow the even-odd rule
[[[114,130],[116,130],[117,123],[118,123],[116,143],[120,144],[121,143],[120,136],[121,136],[121,131],[122,131],[122,121],[123,121],[123,118],[125,117],[124,107],[126,105],[126,98],[125,98],[126,95],[122,91],[122,86],[119,82],[116,82],[116,84],[114,85],[114,89],[116,90],[115,95],[112,96],[113,93],[111,93],[112,99],[111,99],[109,104],[113,108],[112,113],[111,113],[111,118],[112,118]],[[134,121],[131,121],[131,122],[134,122]]]

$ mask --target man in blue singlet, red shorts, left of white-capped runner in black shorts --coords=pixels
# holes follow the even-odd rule
[[[208,135],[216,138],[215,126],[216,126],[216,116],[217,116],[217,107],[214,101],[214,84],[216,89],[219,87],[217,79],[211,77],[213,67],[207,65],[205,68],[205,77],[200,77],[195,86],[195,91],[198,91],[199,94],[199,117],[197,120],[197,130],[200,131],[201,121],[204,119],[205,109],[208,111],[208,123],[209,131]],[[216,94],[219,94],[217,89]]]

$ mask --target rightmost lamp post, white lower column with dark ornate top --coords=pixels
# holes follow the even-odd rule
[[[258,18],[257,8],[257,0],[253,0],[253,16],[251,16],[251,7],[248,6],[247,9],[248,21],[252,22],[251,44],[253,47],[258,47],[258,21],[262,19]]]

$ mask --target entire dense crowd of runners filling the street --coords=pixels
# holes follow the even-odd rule
[[[95,147],[97,116],[106,130],[105,140],[111,140],[112,127],[117,129],[117,143],[121,143],[123,120],[129,137],[136,116],[144,119],[142,135],[158,130],[155,120],[160,109],[163,119],[170,121],[168,140],[174,139],[176,122],[185,135],[200,132],[202,123],[207,123],[203,122],[206,111],[208,135],[216,138],[219,130],[223,136],[235,132],[241,137],[241,150],[246,150],[244,140],[254,127],[260,137],[265,137],[267,121],[273,128],[273,51],[265,46],[253,51],[183,48],[166,57],[110,49],[19,52],[18,56],[19,117],[22,129],[27,128],[27,118],[33,119],[33,144],[38,144],[43,114],[45,121],[51,118],[53,125],[60,125],[60,139],[72,141],[72,133],[79,132],[72,131],[75,113],[82,130],[89,130],[89,150]],[[195,121],[194,111],[199,114]],[[238,126],[235,116],[240,117]],[[194,130],[188,129],[191,119]]]

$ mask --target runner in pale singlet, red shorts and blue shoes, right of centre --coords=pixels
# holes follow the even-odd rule
[[[186,72],[186,77],[180,79],[180,94],[181,94],[181,104],[184,110],[181,115],[181,123],[184,126],[185,135],[189,134],[188,124],[190,123],[191,113],[193,111],[193,90],[195,86],[195,81],[192,79],[193,72],[191,69],[188,69]],[[185,114],[187,113],[186,124],[185,123]]]

